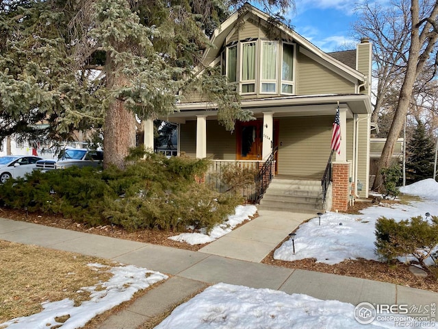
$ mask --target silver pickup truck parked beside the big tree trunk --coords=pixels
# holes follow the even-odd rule
[[[62,152],[60,160],[39,160],[36,170],[49,171],[53,169],[66,169],[68,167],[98,167],[103,162],[103,151],[88,149],[66,149]]]

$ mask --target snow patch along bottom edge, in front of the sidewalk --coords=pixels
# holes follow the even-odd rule
[[[364,328],[354,314],[355,306],[337,300],[219,283],[175,308],[155,329]],[[367,328],[394,328],[394,320]]]

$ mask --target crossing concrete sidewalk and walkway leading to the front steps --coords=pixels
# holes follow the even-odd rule
[[[274,227],[266,227],[268,224],[263,223],[268,217],[270,221],[275,221]],[[129,308],[103,322],[100,328],[105,329],[137,328],[151,317],[172,309],[185,298],[218,282],[268,288],[286,293],[305,293],[322,300],[339,300],[354,305],[370,302],[424,306],[437,302],[438,293],[430,291],[255,263],[273,249],[272,245],[275,246],[277,243],[275,241],[283,240],[300,223],[301,217],[292,217],[278,212],[261,212],[257,221],[246,223],[229,236],[211,243],[213,246],[201,249],[201,252],[73,232],[10,219],[0,219],[0,239],[99,256],[170,274],[171,278],[166,282],[151,289]],[[248,227],[243,229],[246,226]],[[261,245],[263,247],[260,247]],[[226,250],[222,252],[221,247]],[[238,252],[239,249],[241,252]]]

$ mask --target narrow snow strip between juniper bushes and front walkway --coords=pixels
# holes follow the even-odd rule
[[[194,233],[183,233],[177,236],[170,236],[168,239],[172,239],[179,242],[189,243],[190,245],[201,245],[203,243],[209,243],[219,239],[220,236],[231,232],[233,228],[245,221],[250,219],[257,212],[257,207],[253,205],[247,206],[237,206],[235,208],[235,215],[229,215],[227,221],[223,223],[216,224],[211,232],[207,233],[205,228],[201,229],[201,232]]]

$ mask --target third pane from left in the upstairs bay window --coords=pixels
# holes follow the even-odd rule
[[[277,93],[277,58],[279,42],[261,42],[260,93]]]

